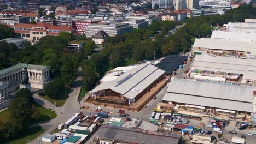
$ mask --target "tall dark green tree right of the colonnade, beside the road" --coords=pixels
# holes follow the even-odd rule
[[[69,53],[63,57],[63,60],[60,67],[61,79],[70,86],[77,77],[78,59]]]

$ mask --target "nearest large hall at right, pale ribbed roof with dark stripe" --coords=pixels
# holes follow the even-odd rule
[[[251,118],[255,89],[247,85],[173,78],[162,101],[175,104],[176,109]]]

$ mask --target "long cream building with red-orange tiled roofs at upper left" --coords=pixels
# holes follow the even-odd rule
[[[65,26],[52,26],[48,23],[37,23],[34,24],[25,24],[18,23],[13,26],[14,32],[17,33],[18,38],[27,39],[30,41],[39,41],[40,38],[46,35],[59,35],[60,32],[68,32],[74,35],[77,39],[80,37],[80,34],[76,29]]]

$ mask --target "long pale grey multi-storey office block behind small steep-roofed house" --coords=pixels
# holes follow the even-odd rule
[[[132,26],[128,23],[91,23],[85,28],[85,35],[87,38],[92,38],[101,30],[114,37],[117,34],[131,33]]]

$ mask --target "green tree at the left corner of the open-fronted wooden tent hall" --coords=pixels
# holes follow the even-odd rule
[[[98,80],[98,76],[95,71],[89,68],[83,68],[83,85],[85,89],[93,88]]]

